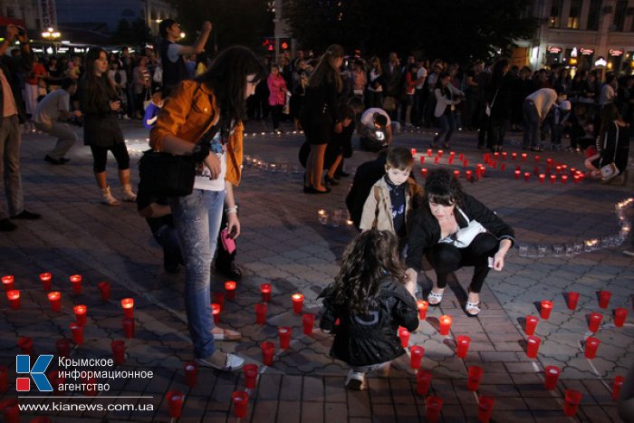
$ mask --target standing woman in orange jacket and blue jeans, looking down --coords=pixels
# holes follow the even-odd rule
[[[180,82],[150,132],[153,149],[192,155],[201,163],[193,192],[171,198],[170,206],[185,260],[185,307],[196,361],[216,370],[244,364],[235,354],[216,350],[215,340],[236,341],[241,335],[214,326],[209,269],[223,208],[229,235],[240,235],[233,187],[240,182],[242,120],[246,99],[263,78],[264,69],[251,50],[230,47],[196,80]],[[200,140],[208,130],[216,131],[213,139]]]

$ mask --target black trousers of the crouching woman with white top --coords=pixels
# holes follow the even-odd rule
[[[469,289],[472,293],[479,293],[489,274],[488,258],[495,255],[498,245],[497,238],[487,232],[476,236],[466,248],[450,244],[435,245],[427,254],[427,260],[436,270],[438,288],[447,286],[448,274],[468,265],[475,267]]]

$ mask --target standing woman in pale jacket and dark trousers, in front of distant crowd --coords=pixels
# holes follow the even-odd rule
[[[431,147],[437,149],[438,140],[443,140],[443,148],[450,149],[449,140],[456,130],[456,105],[465,97],[463,91],[454,87],[449,80],[451,75],[449,72],[442,72],[438,75],[434,96],[436,97],[436,110],[434,117],[437,121],[438,133],[434,137]]]

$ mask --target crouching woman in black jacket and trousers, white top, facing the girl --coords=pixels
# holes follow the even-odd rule
[[[471,240],[469,232],[477,235]],[[416,281],[423,255],[427,255],[434,266],[437,282],[427,298],[429,304],[442,301],[448,274],[462,266],[474,266],[465,311],[476,316],[480,312],[480,290],[489,268],[501,271],[504,257],[513,245],[511,226],[476,198],[465,194],[460,182],[447,169],[429,173],[422,205],[409,236],[406,260],[410,281]],[[489,257],[493,258],[491,266]]]

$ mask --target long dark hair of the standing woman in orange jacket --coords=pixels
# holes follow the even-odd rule
[[[264,67],[248,48],[235,45],[218,54],[207,72],[197,77],[216,95],[220,117],[226,125],[244,120],[246,115],[246,76],[255,73],[253,82],[266,78]]]

